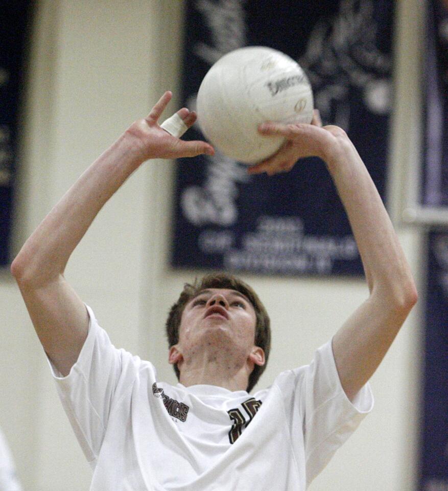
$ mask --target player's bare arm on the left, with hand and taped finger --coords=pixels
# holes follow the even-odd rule
[[[205,142],[175,138],[158,124],[172,97],[166,92],[147,118],[135,121],[79,177],[44,218],[11,265],[45,352],[67,375],[78,359],[88,330],[83,302],[63,274],[68,258],[107,200],[143,162],[213,153]],[[190,127],[196,114],[177,112]]]

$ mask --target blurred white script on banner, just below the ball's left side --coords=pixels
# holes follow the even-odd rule
[[[187,220],[197,227],[205,224],[229,227],[238,218],[236,183],[247,182],[249,175],[246,167],[219,152],[209,160],[204,187],[185,188],[180,197],[181,208]]]

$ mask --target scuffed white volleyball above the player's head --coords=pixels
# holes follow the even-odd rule
[[[227,157],[255,164],[284,142],[261,136],[258,125],[311,123],[313,92],[308,77],[288,55],[263,46],[240,48],[220,58],[205,75],[197,113],[211,144]]]

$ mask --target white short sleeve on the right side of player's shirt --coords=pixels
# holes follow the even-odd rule
[[[293,448],[305,459],[308,485],[372,410],[373,395],[366,384],[352,402],[348,399],[332,341],[316,351],[310,365],[281,374],[279,385],[285,395]]]

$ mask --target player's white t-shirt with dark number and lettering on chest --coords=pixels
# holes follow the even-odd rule
[[[331,342],[253,395],[172,386],[88,311],[77,363],[66,377],[52,370],[91,491],[303,491],[372,408],[368,385],[346,397]]]

